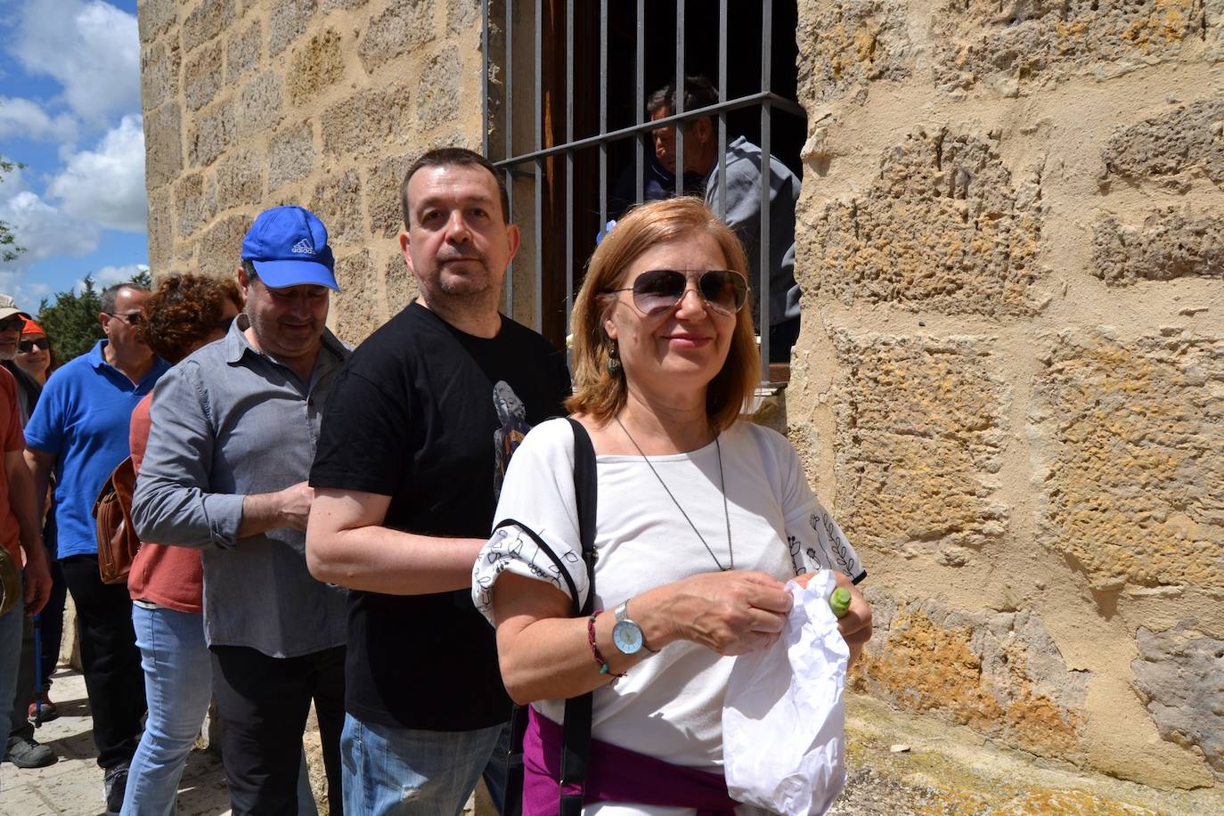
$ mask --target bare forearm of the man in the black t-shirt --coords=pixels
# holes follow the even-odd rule
[[[311,516],[306,564],[319,581],[387,595],[432,595],[471,587],[483,538],[437,538],[370,525],[324,531]]]

